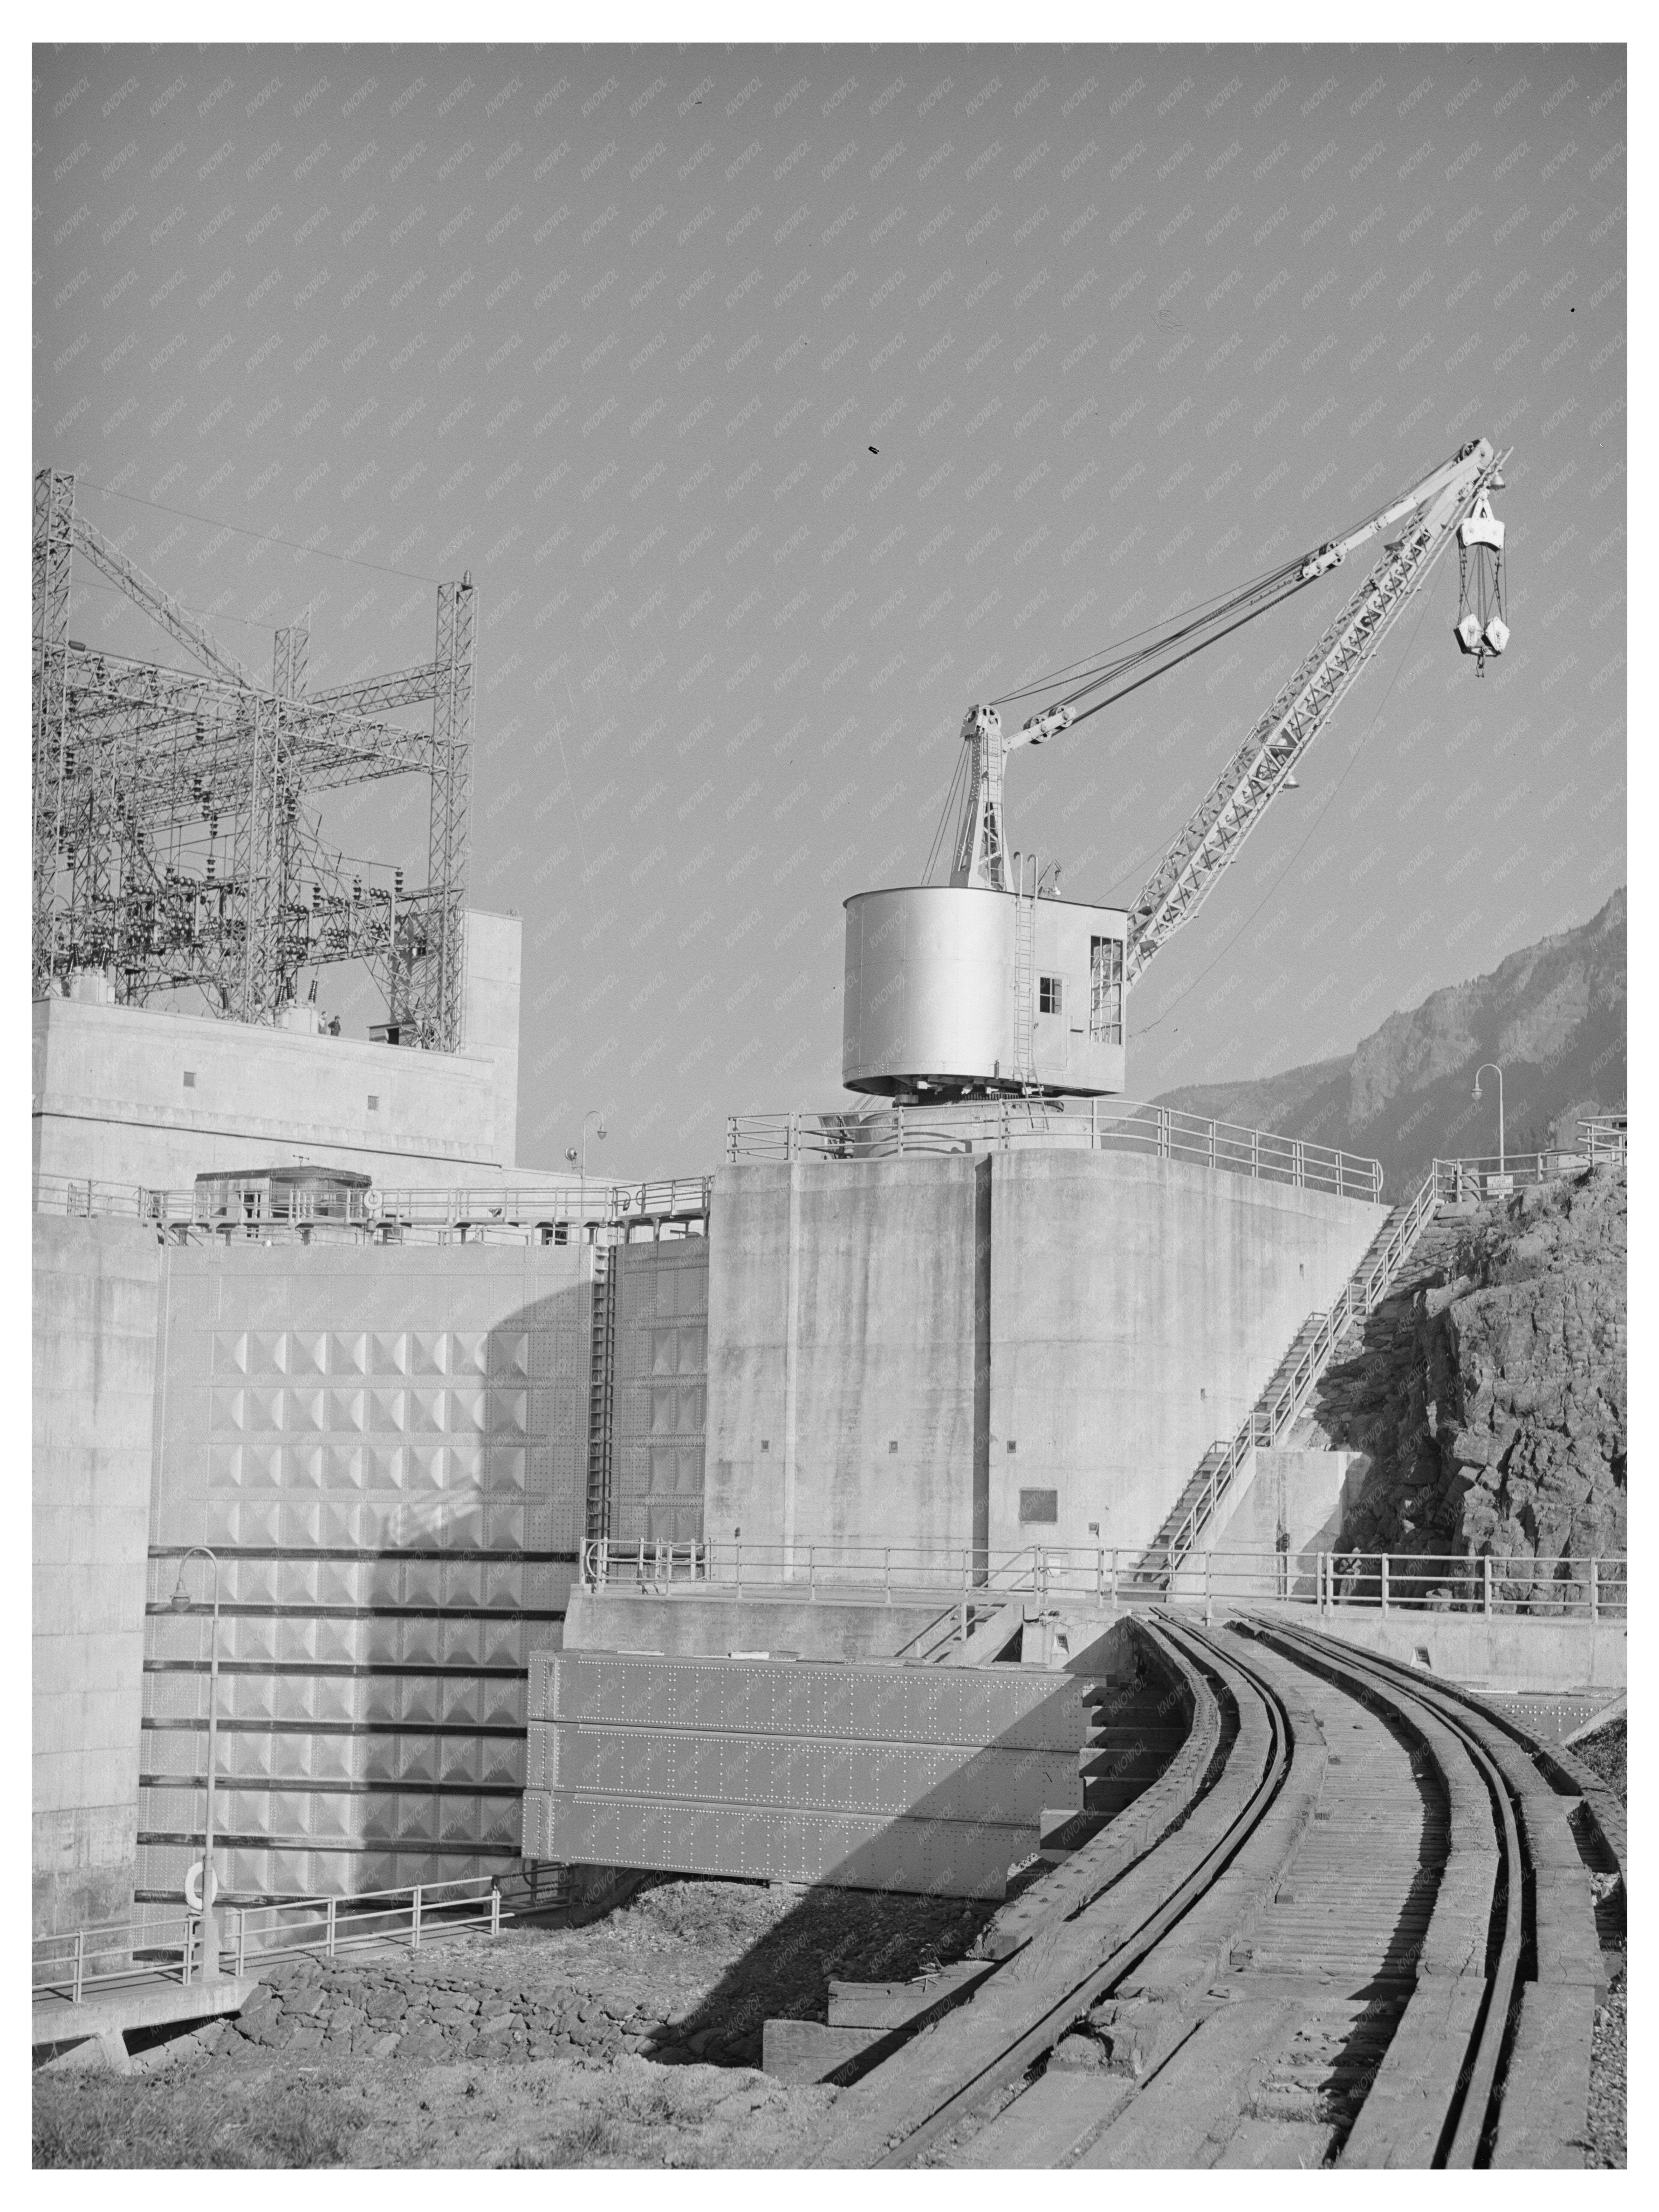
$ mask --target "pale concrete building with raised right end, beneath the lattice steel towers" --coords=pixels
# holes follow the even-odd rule
[[[518,918],[467,916],[476,995],[458,1055],[35,1000],[35,1172],[188,1188],[204,1168],[312,1159],[376,1183],[440,1186],[507,1168],[518,1139]]]

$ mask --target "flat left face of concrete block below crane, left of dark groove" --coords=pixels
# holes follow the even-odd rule
[[[969,1157],[717,1172],[710,1537],[971,1546],[982,1175]]]

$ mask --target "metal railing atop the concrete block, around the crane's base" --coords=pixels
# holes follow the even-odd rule
[[[726,1159],[898,1159],[907,1152],[1009,1152],[1053,1146],[1146,1152],[1272,1183],[1376,1201],[1383,1166],[1301,1137],[1206,1121],[1130,1099],[987,1099],[964,1106],[880,1106],[856,1113],[748,1113],[726,1121]]]

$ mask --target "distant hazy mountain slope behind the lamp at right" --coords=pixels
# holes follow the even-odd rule
[[[1579,1115],[1624,1106],[1624,889],[1593,920],[1511,953],[1491,975],[1391,1013],[1345,1060],[1168,1091],[1157,1104],[1369,1152],[1400,1199],[1436,1155],[1498,1150],[1491,1075],[1480,1104],[1469,1095],[1484,1060],[1504,1071],[1511,1152],[1571,1141]]]

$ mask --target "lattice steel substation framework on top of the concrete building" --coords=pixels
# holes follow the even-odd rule
[[[108,577],[201,675],[69,637],[71,555]],[[75,480],[35,473],[33,989],[97,969],[124,1004],[199,984],[239,1022],[274,1022],[303,969],[363,960],[398,1042],[462,1042],[471,803],[473,584],[438,586],[429,664],[327,690],[307,630],[276,630],[261,686],[75,513]],[[431,701],[431,728],[387,717]],[[367,883],[327,847],[307,794],[427,776],[427,885]],[[206,854],[197,849],[206,827]],[[219,838],[226,836],[223,865]],[[387,874],[387,872],[380,872]]]

